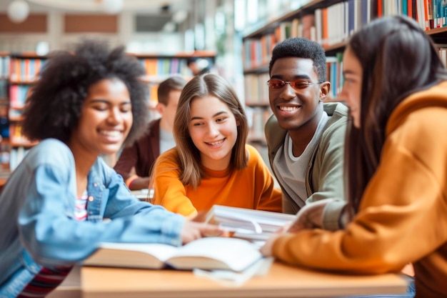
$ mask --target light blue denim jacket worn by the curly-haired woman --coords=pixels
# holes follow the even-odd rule
[[[0,195],[0,298],[16,297],[43,266],[81,262],[99,242],[181,245],[184,217],[140,202],[100,157],[87,192],[88,217],[78,222],[69,147],[46,139],[26,154]]]

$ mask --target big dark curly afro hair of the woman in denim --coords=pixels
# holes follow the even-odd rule
[[[90,86],[103,79],[119,79],[131,96],[134,121],[125,141],[131,144],[144,133],[149,119],[148,88],[140,80],[145,73],[135,57],[126,55],[124,46],[109,49],[102,42],[86,40],[74,53],[55,51],[27,99],[24,135],[31,141],[54,138],[66,143],[78,126]]]

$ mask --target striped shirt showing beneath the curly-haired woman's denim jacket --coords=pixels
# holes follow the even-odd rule
[[[81,197],[76,198],[74,216],[78,221],[87,219],[86,207],[88,197],[87,192],[84,192]],[[42,268],[34,279],[24,287],[17,298],[45,297],[64,281],[70,270],[71,267]]]

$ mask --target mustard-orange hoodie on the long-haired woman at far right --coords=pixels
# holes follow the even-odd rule
[[[388,120],[381,162],[345,230],[284,234],[273,255],[335,272],[399,272],[416,297],[447,297],[447,81],[408,96]]]

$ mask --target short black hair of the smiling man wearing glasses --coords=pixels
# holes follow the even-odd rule
[[[279,42],[273,48],[268,74],[271,74],[271,68],[276,60],[287,57],[311,59],[318,81],[326,81],[326,53],[317,42],[303,37],[293,37]]]

